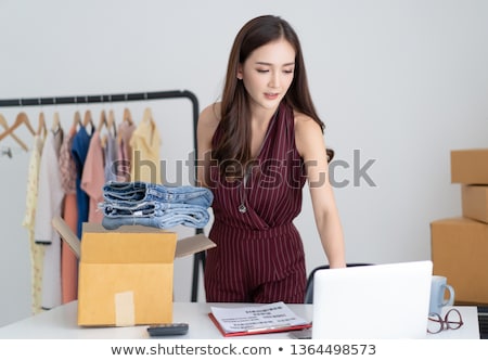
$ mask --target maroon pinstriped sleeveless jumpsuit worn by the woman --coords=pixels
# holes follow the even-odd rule
[[[214,142],[221,137],[220,127]],[[293,109],[282,102],[245,186],[210,169],[214,223],[205,293],[209,302],[304,301],[306,270],[293,220],[301,210],[305,168],[295,144]],[[240,206],[245,206],[245,211]]]

